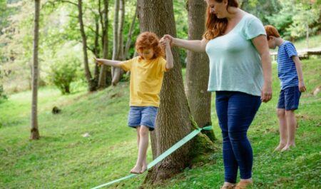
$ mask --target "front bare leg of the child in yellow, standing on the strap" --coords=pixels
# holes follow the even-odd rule
[[[148,148],[148,132],[149,129],[146,126],[141,126],[139,130],[139,147],[138,158],[135,167],[131,170],[131,173],[140,174],[147,168],[146,152]]]

